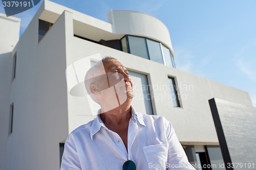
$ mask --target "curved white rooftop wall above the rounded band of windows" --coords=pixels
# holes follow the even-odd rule
[[[168,29],[157,18],[130,10],[110,10],[108,18],[113,25],[115,34],[131,34],[151,38],[162,42],[173,53]]]

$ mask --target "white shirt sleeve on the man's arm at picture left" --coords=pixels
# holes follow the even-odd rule
[[[69,135],[65,142],[64,152],[62,155],[60,170],[81,170],[80,160],[76,150],[76,145],[72,134]]]

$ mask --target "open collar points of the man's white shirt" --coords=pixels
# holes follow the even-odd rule
[[[136,123],[136,124],[138,122],[140,125],[146,126],[144,124],[142,114],[136,112],[133,106],[131,106],[131,107],[132,107],[132,117],[131,117],[131,119],[133,120],[133,122]],[[101,112],[101,110],[99,109],[98,112],[97,112],[97,117],[94,119],[92,127],[91,127],[90,135],[91,135],[92,140],[93,140],[93,135],[95,135],[100,130],[101,127],[108,130],[108,128],[106,128],[106,126],[104,125],[104,123],[102,122],[102,120],[99,116],[100,112]]]

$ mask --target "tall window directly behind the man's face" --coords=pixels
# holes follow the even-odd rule
[[[150,88],[147,83],[147,76],[138,72],[130,71],[129,75],[133,80],[134,98],[132,105],[136,111],[146,114],[153,114]]]

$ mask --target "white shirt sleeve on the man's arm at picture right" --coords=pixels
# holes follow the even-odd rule
[[[170,169],[184,169],[184,170],[196,170],[189,162],[182,145],[180,144],[174,128],[169,123],[166,130],[166,137],[168,141],[168,162],[166,167]]]

